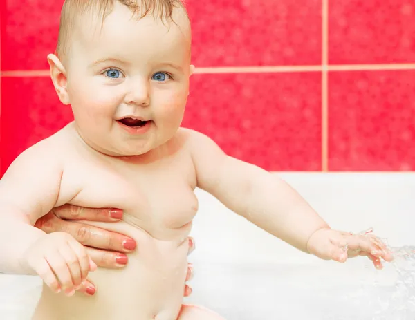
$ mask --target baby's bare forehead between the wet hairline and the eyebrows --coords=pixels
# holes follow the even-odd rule
[[[186,64],[190,58],[190,26],[180,16],[161,21],[150,15],[134,19],[129,12],[114,12],[103,22],[82,17],[74,36],[70,59],[116,57],[130,63]]]

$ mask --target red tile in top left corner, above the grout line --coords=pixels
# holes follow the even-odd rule
[[[46,56],[53,53],[59,31],[59,14],[64,0],[5,1],[2,16],[1,70],[48,68]]]

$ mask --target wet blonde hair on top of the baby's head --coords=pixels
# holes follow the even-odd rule
[[[162,21],[173,21],[174,8],[185,10],[181,0],[65,0],[60,17],[56,55],[58,57],[66,55],[68,43],[79,17],[93,13],[101,19],[101,23],[104,23],[105,18],[113,11],[116,1],[127,6],[138,19],[147,15],[156,15]]]

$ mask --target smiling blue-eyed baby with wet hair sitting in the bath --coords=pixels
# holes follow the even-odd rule
[[[196,187],[317,257],[367,255],[377,267],[391,260],[375,236],[330,229],[285,182],[180,127],[194,70],[190,43],[179,0],[64,3],[48,62],[75,121],[21,153],[0,182],[0,272],[43,279],[33,319],[222,319],[182,305]],[[140,243],[125,270],[96,270],[72,236],[33,227],[66,203],[124,210],[117,225],[90,224]],[[75,293],[86,276],[100,288],[94,297]]]

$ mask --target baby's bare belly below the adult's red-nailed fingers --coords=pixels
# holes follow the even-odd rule
[[[185,288],[188,241],[160,241],[125,223],[118,225],[119,232],[138,244],[127,267],[91,272],[94,297],[65,297],[44,287],[34,320],[176,320]]]

